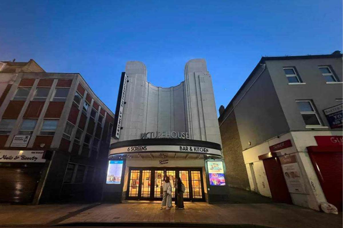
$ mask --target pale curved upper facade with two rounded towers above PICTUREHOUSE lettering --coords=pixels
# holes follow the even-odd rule
[[[130,61],[121,132],[118,141],[140,139],[151,131],[189,132],[190,139],[221,145],[212,78],[204,59],[185,66],[185,81],[162,88],[146,80],[143,63]]]

